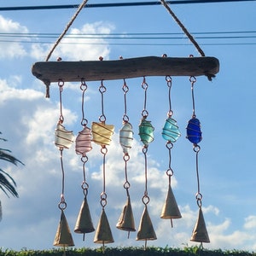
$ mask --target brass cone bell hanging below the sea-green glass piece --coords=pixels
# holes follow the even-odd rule
[[[154,233],[154,227],[148,214],[148,208],[145,206],[140,225],[137,231],[136,240],[155,240],[157,239]]]

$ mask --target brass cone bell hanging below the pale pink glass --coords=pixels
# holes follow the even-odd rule
[[[84,201],[80,207],[80,212],[77,218],[77,222],[75,224],[74,232],[79,234],[85,234],[85,233],[93,232],[94,230],[95,229],[90,217],[89,206],[85,196]]]

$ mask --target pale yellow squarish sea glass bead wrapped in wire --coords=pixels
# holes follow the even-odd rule
[[[109,145],[113,135],[114,126],[106,125],[103,122],[93,122],[91,125],[92,141],[99,145]]]

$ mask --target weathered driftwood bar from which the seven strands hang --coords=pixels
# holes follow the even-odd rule
[[[116,61],[44,61],[32,66],[32,74],[49,85],[65,82],[131,79],[143,76],[201,76],[218,73],[215,57],[140,57]]]

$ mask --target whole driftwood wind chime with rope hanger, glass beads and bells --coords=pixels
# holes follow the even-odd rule
[[[212,77],[218,73],[219,63],[218,59],[214,57],[205,56],[204,52],[201,50],[199,45],[195,42],[195,39],[189,34],[185,29],[183,24],[177,19],[177,16],[173,14],[170,7],[166,4],[164,0],[160,0],[167,11],[172,15],[174,20],[183,29],[183,32],[188,36],[191,43],[195,45],[195,48],[201,54],[201,57],[194,57],[190,55],[187,58],[177,58],[177,57],[167,57],[163,55],[162,57],[148,56],[148,57],[138,57],[123,59],[120,58],[116,61],[49,61],[49,57],[54,51],[55,47],[61,42],[68,30],[72,25],[73,20],[79,15],[81,9],[88,0],[84,0],[79,6],[78,11],[73,16],[73,19],[67,24],[67,28],[61,34],[60,38],[56,41],[53,49],[49,52],[46,61],[36,62],[32,67],[32,74],[38,79],[42,80],[46,85],[46,97],[49,97],[49,85],[51,83],[57,82],[60,90],[60,117],[55,129],[55,145],[59,148],[61,154],[61,173],[62,173],[62,183],[61,183],[61,201],[58,205],[61,210],[61,220],[55,235],[55,246],[69,247],[73,246],[73,238],[70,229],[67,224],[67,218],[65,217],[64,210],[67,207],[67,202],[65,201],[65,173],[63,165],[63,151],[66,148],[70,148],[75,140],[72,131],[67,131],[65,129],[64,117],[62,114],[62,90],[64,81],[65,82],[80,82],[80,89],[82,90],[82,120],[81,125],[83,130],[79,131],[79,134],[75,140],[75,151],[77,154],[81,155],[81,162],[83,165],[83,182],[81,188],[84,194],[84,200],[80,207],[79,217],[75,224],[74,232],[83,234],[93,232],[94,226],[90,217],[90,210],[88,206],[87,196],[89,190],[89,184],[86,179],[85,166],[88,161],[87,153],[92,149],[91,142],[96,143],[101,147],[100,152],[102,154],[102,193],[100,195],[100,204],[102,207],[102,212],[100,215],[99,222],[96,228],[96,234],[94,236],[94,242],[102,243],[104,246],[107,243],[113,242],[112,231],[110,224],[108,223],[107,214],[105,208],[107,206],[107,192],[106,192],[106,156],[108,154],[108,145],[111,143],[112,135],[114,131],[113,125],[106,124],[106,116],[104,113],[104,94],[107,90],[105,86],[106,80],[122,79],[124,81],[122,90],[124,92],[124,102],[125,109],[122,119],[122,127],[119,130],[119,144],[123,149],[123,160],[125,164],[125,183],[124,189],[126,192],[126,202],[123,207],[123,211],[120,214],[119,220],[116,227],[119,230],[128,231],[128,238],[131,231],[136,231],[135,222],[133,217],[133,212],[131,208],[131,197],[130,197],[130,187],[131,184],[128,179],[128,162],[130,160],[129,150],[131,149],[131,143],[133,140],[133,130],[132,125],[129,122],[129,117],[127,115],[127,102],[126,94],[129,87],[126,84],[126,79],[131,78],[143,78],[142,88],[144,90],[144,102],[142,119],[138,126],[138,135],[141,142],[143,143],[142,153],[144,156],[144,193],[142,197],[143,201],[143,214],[140,219],[139,227],[137,230],[137,240],[145,241],[144,247],[147,247],[147,241],[155,240],[157,237],[154,232],[154,227],[149,217],[148,204],[148,146],[154,141],[154,126],[151,125],[151,121],[148,120],[148,110],[147,110],[147,93],[148,93],[148,83],[146,77],[148,76],[163,76],[166,78],[166,84],[168,87],[168,102],[169,110],[167,112],[166,122],[162,129],[162,137],[166,140],[166,149],[169,155],[169,164],[166,170],[166,176],[168,177],[168,190],[166,195],[166,201],[162,207],[162,212],[160,213],[160,218],[170,219],[171,226],[173,226],[172,219],[182,218],[182,215],[177,207],[177,201],[172,192],[172,176],[174,174],[172,170],[172,148],[173,143],[176,143],[178,137],[181,136],[178,130],[177,121],[172,118],[172,102],[171,102],[171,89],[172,89],[172,76],[187,76],[192,89],[192,103],[193,103],[193,114],[192,118],[189,119],[187,125],[187,138],[190,143],[193,143],[193,151],[195,152],[195,162],[196,162],[196,178],[197,178],[197,193],[195,199],[197,206],[199,207],[198,218],[192,232],[190,241],[197,242],[209,242],[209,237],[207,233],[207,228],[205,220],[202,213],[202,194],[200,190],[200,179],[199,179],[199,164],[198,164],[198,154],[201,147],[198,143],[201,142],[201,124],[199,119],[195,115],[195,97],[194,97],[194,84],[196,82],[196,76],[207,76],[207,79],[212,80]],[[120,70],[122,72],[120,72]],[[124,79],[125,78],[125,79]],[[99,92],[101,94],[101,104],[102,113],[99,117],[98,122],[92,122],[91,129],[88,127],[88,120],[84,117],[84,93],[87,89],[86,81],[101,81],[99,86]]]

